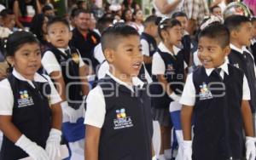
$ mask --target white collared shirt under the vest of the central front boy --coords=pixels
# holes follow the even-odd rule
[[[130,89],[133,92],[131,85],[121,81],[117,77],[114,77],[113,74],[111,74],[109,71],[107,74],[116,83],[124,85],[127,89]],[[139,88],[143,88],[144,83],[138,77],[133,77],[132,84],[138,86]],[[101,129],[105,120],[106,103],[102,88],[100,86],[96,86],[95,89],[90,90],[86,99],[86,104],[87,106],[84,116],[84,124],[88,124]]]

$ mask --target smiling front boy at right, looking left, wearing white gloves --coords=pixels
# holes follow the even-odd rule
[[[227,63],[228,29],[212,24],[202,30],[198,54],[203,66],[188,76],[180,100],[183,104],[183,160],[244,159],[245,156],[254,160],[250,91],[244,72]]]

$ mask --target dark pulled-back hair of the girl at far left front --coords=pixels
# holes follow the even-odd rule
[[[38,38],[31,32],[15,31],[4,40],[5,57],[14,56],[15,52],[25,43],[38,43]]]

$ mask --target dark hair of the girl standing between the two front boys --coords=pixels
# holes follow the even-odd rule
[[[160,20],[158,24],[158,34],[162,40],[163,40],[163,37],[161,35],[161,31],[166,31],[167,29],[172,28],[173,26],[181,26],[181,23],[176,19]]]

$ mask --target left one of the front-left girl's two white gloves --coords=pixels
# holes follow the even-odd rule
[[[49,160],[46,151],[41,146],[38,146],[35,142],[32,142],[24,134],[20,136],[20,139],[16,141],[15,146],[19,146],[34,160]]]

